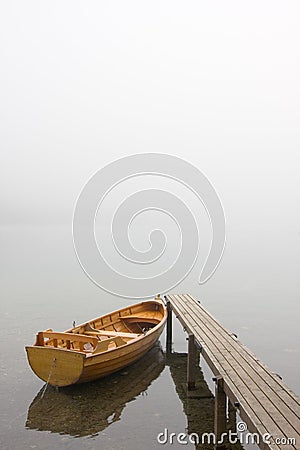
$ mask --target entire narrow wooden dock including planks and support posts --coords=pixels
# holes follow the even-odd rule
[[[195,345],[214,374],[217,439],[226,432],[228,399],[262,450],[299,450],[300,399],[195,298],[165,299],[167,352],[172,351],[172,311],[189,334],[188,389],[195,383]]]

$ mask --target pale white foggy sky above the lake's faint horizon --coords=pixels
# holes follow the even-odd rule
[[[202,170],[229,221],[295,220],[298,1],[0,8],[2,223],[70,223],[97,169],[149,151]]]

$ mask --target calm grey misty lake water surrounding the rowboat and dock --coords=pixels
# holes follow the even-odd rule
[[[257,242],[253,233],[253,241],[243,242],[242,248],[243,236],[229,230],[228,249],[211,281],[199,287],[192,272],[174,292],[196,295],[299,394],[299,261],[291,250],[299,238],[287,236],[282,248],[277,238],[262,233]],[[251,259],[255,245],[261,249],[258,260]],[[287,245],[290,259],[284,267]],[[279,264],[281,278],[276,276]],[[185,432],[188,419],[172,369],[158,349],[149,356],[153,360],[146,358],[134,373],[124,369],[104,382],[72,387],[62,394],[66,401],[60,393],[56,401],[56,392],[50,389],[43,399],[47,407],[36,403],[44,383],[32,373],[24,351],[36,332],[50,327],[65,330],[73,320],[81,323],[130,301],[102,292],[86,277],[75,257],[69,227],[2,227],[1,268],[2,449],[162,448],[156,436],[164,428]],[[164,336],[161,343],[164,346]],[[175,320],[174,347],[186,351],[185,335]],[[205,373],[210,375],[207,369]]]

